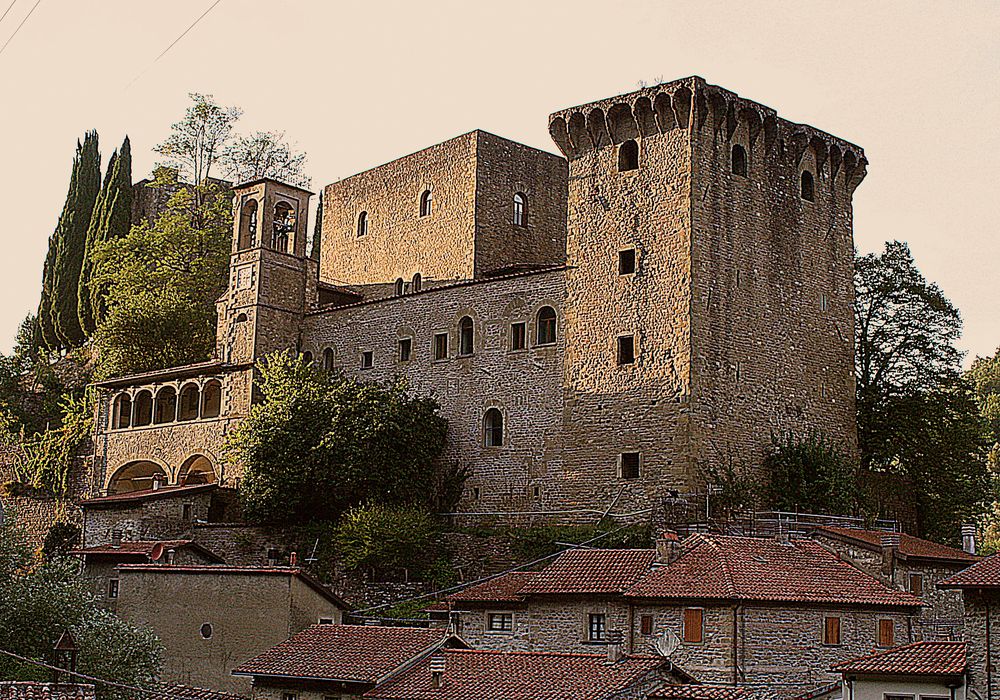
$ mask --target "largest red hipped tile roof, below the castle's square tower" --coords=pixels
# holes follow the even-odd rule
[[[873,606],[923,605],[810,540],[691,535],[673,563],[629,588],[634,598],[683,598]]]

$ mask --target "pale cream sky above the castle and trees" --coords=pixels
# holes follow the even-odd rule
[[[14,0],[0,46],[36,2],[0,53],[0,350],[87,129],[105,160],[127,133],[138,180],[211,93],[285,131],[319,191],[475,128],[556,152],[550,112],[689,75],[862,146],[859,248],[908,241],[967,362],[1000,345],[1000,2],[221,0],[155,62],[214,0]]]

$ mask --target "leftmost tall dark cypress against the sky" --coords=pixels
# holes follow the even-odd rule
[[[97,132],[88,131],[83,144],[77,144],[70,190],[52,235],[54,240],[49,242],[50,253],[53,247],[55,253],[49,275],[48,313],[57,346],[61,348],[77,347],[86,340],[77,313],[77,288],[87,244],[87,229],[100,189],[101,154],[97,147]]]

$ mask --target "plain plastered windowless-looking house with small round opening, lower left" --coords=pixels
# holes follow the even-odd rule
[[[348,605],[297,568],[171,564],[118,567],[117,614],[164,645],[161,680],[248,695],[230,671]]]

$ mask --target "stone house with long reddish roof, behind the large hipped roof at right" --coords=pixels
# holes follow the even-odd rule
[[[962,595],[937,584],[979,561],[975,552],[905,532],[823,526],[811,536],[872,576],[927,603],[919,620],[924,639],[961,638]]]

